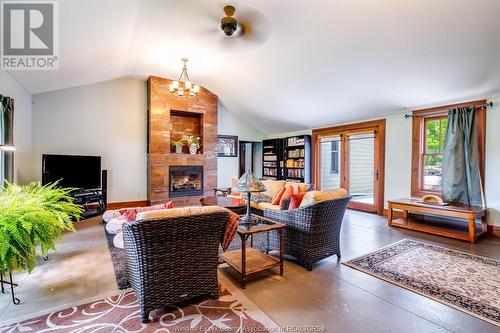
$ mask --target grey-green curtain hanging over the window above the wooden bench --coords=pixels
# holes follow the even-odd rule
[[[461,107],[448,112],[442,191],[446,202],[473,206],[483,204],[473,107]]]

